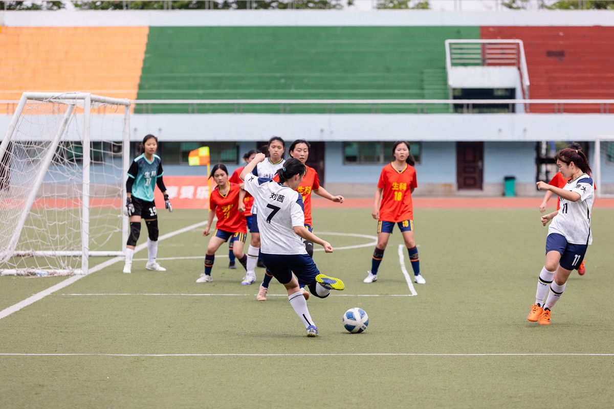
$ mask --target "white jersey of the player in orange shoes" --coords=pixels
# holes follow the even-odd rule
[[[548,234],[562,234],[567,243],[593,243],[593,234],[591,234],[591,209],[595,200],[593,178],[582,174],[575,180],[569,180],[563,189],[580,194],[580,200],[572,202],[561,197],[561,209],[552,219]]]

